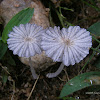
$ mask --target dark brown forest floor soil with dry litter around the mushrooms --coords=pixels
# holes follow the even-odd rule
[[[95,8],[82,2],[85,0],[61,1],[63,2],[54,3],[55,7],[62,6],[74,10],[62,10],[62,14],[66,18],[68,23],[71,23],[73,25],[79,25],[87,29],[93,23],[100,21],[100,12],[98,12]],[[41,2],[44,4],[44,6],[49,7],[47,5],[47,0],[41,0]],[[99,0],[96,0],[96,5],[100,7]],[[56,19],[57,15],[53,13],[54,12],[51,11],[51,17],[53,19],[53,22],[55,23],[55,25],[61,26],[60,21]],[[1,24],[0,27],[2,27]],[[95,45],[95,43],[93,45]],[[17,56],[14,57],[16,66],[11,66],[7,62],[1,60],[0,100],[28,100],[27,98],[29,97],[32,89],[34,90],[30,96],[30,100],[58,100],[60,92],[65,83],[79,74],[83,65],[89,59],[91,52],[92,50],[90,50],[90,54],[79,64],[75,64],[74,66],[69,67],[65,66],[61,74],[58,77],[52,79],[46,78],[45,75],[49,72],[56,71],[60,63],[57,63],[49,67],[48,69],[42,71],[40,73],[39,79],[33,80],[29,67],[22,64]],[[93,62],[96,59],[97,58],[95,56],[81,73],[97,70],[97,68],[93,65]],[[10,74],[7,74],[6,71],[4,71],[3,68],[6,69],[6,67],[9,68]],[[6,80],[6,78],[7,81],[6,83],[4,83],[4,80]],[[89,88],[85,88],[76,91],[68,95],[68,97],[73,97],[79,100],[100,100],[100,94],[86,94],[88,90]]]

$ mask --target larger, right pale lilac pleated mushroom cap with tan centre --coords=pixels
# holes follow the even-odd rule
[[[92,46],[90,32],[79,26],[69,28],[49,27],[42,36],[41,47],[53,61],[74,65],[89,54]]]

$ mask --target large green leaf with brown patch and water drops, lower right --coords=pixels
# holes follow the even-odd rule
[[[69,80],[63,87],[60,98],[92,85],[100,85],[99,71],[83,73]]]

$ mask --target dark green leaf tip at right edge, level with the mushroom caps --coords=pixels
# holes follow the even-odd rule
[[[100,22],[91,25],[87,30],[96,36],[100,36]]]

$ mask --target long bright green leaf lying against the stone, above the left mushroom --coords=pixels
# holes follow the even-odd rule
[[[33,12],[34,8],[27,8],[16,14],[5,26],[2,33],[2,41],[6,43],[8,33],[12,31],[12,27],[28,23],[33,16]]]

